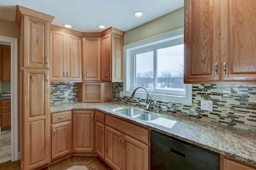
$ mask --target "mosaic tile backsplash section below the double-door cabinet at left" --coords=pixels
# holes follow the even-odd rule
[[[78,83],[51,83],[51,105],[69,102],[78,102]]]

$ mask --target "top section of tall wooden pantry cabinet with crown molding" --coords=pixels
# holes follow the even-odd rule
[[[50,23],[54,17],[17,6],[16,23],[21,29],[20,66],[49,68]]]

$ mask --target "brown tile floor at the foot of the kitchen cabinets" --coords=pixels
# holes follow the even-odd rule
[[[20,160],[0,164],[0,170],[21,170]],[[43,170],[112,170],[98,156],[71,156]]]

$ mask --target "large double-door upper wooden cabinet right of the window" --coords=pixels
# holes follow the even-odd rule
[[[185,0],[184,83],[255,84],[254,0]]]

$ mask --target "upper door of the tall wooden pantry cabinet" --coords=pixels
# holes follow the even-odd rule
[[[49,68],[50,22],[24,16],[24,63],[25,68]]]

